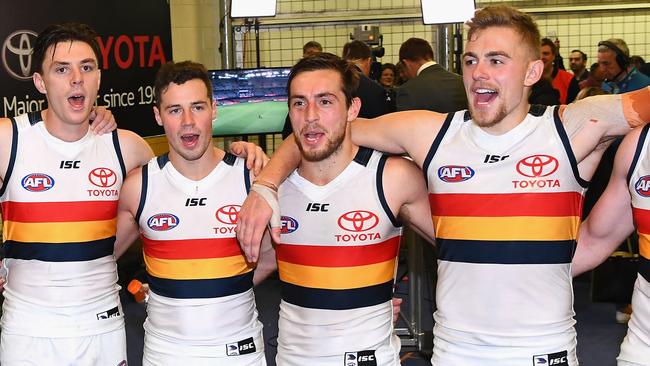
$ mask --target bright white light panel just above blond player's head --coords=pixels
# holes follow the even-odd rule
[[[464,23],[474,16],[476,10],[474,0],[421,1],[424,24]]]

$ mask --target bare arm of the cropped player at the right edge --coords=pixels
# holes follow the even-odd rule
[[[574,276],[602,263],[634,231],[627,174],[641,129],[634,129],[623,139],[609,184],[580,226],[578,247],[572,261]]]

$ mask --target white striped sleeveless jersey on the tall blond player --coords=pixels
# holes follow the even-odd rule
[[[587,182],[557,113],[531,106],[500,136],[450,114],[424,162],[439,250],[434,335],[494,346],[478,364],[575,344],[570,265]],[[498,346],[516,347],[515,361]]]

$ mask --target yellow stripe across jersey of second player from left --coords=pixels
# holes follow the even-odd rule
[[[145,255],[144,262],[152,276],[175,280],[226,278],[252,270],[241,255],[210,259],[158,259]]]

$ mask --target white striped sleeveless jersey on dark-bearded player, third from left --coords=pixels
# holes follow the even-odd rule
[[[385,161],[359,147],[324,186],[297,171],[281,185],[279,365],[399,364],[391,298],[401,226],[384,197]]]

